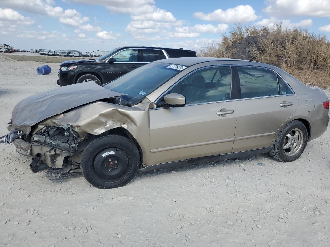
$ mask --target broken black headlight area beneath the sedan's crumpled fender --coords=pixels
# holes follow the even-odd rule
[[[47,125],[38,130],[32,137],[31,143],[38,143],[61,151],[76,151],[81,138],[71,125]]]

